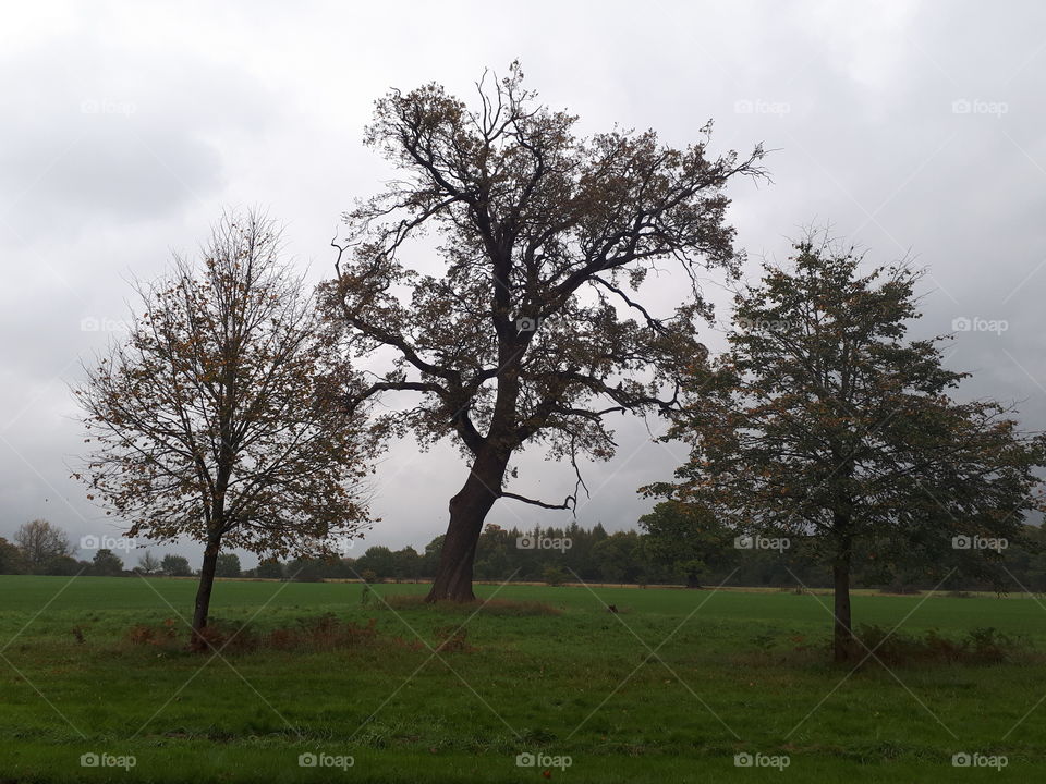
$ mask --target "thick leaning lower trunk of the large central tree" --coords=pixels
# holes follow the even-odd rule
[[[508,463],[508,454],[485,451],[476,455],[464,486],[450,500],[450,524],[439,553],[436,579],[425,601],[466,602],[476,598],[472,592],[476,544],[487,512],[501,494],[501,479]]]

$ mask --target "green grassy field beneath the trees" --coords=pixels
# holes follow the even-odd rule
[[[234,639],[212,657],[181,649],[193,580],[0,577],[0,781],[1030,782],[1046,770],[1046,609],[1031,597],[858,592],[859,624],[994,627],[1027,648],[1004,664],[852,672],[828,663],[825,596],[479,586],[496,597],[478,610],[404,596],[425,588],[219,581],[212,615],[218,628],[250,622],[242,639],[315,629],[325,613],[354,636]],[[143,625],[178,640],[139,628],[132,641]],[[753,767],[735,764],[745,754]],[[956,754],[1005,767],[954,768]],[[520,767],[519,755],[544,757]]]

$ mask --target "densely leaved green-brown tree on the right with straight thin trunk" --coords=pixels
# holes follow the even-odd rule
[[[860,546],[876,561],[928,573],[987,574],[998,550],[961,537],[1017,541],[1043,465],[1042,434],[1011,408],[950,395],[946,338],[911,340],[921,273],[904,265],[859,274],[861,257],[826,237],[795,245],[737,296],[729,351],[694,366],[670,437],[690,442],[674,486],[655,492],[707,505],[741,532],[793,536],[832,569],[834,652],[855,654],[850,577]],[[714,390],[710,393],[710,390]],[[945,575],[947,576],[947,574]]]

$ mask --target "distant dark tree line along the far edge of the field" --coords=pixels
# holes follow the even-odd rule
[[[790,539],[787,548],[758,547],[737,541],[737,531],[708,525],[673,525],[677,511],[660,503],[644,515],[642,531],[608,534],[601,525],[582,528],[536,526],[530,530],[487,525],[481,537],[476,577],[481,580],[524,583],[617,583],[631,585],[718,585],[827,588],[832,585],[829,565],[818,559],[812,542]],[[692,531],[705,531],[694,538]],[[957,572],[940,584],[917,562],[876,563],[868,553],[856,553],[854,586],[899,593],[929,590],[995,590],[999,584],[1013,592],[1046,592],[1046,530],[1025,526],[1024,542],[1007,543],[1002,551],[1002,578],[982,578]],[[740,544],[740,547],[739,547]],[[234,553],[218,559],[218,577],[245,577],[294,581],[363,579],[368,583],[427,581],[436,574],[442,535],[418,552],[413,547],[392,550],[367,548],[358,558],[265,559],[244,569]],[[120,577],[153,575],[193,577],[184,555],[155,558],[146,551],[133,568],[109,549],[97,550],[90,560],[77,560],[68,535],[46,520],[23,525],[9,542],[0,537],[0,574]]]

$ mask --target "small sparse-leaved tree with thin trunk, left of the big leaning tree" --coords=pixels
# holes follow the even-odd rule
[[[202,264],[136,285],[129,339],[76,391],[99,444],[77,477],[132,536],[205,547],[195,648],[222,547],[325,554],[366,525],[375,442],[340,404],[355,377],[280,257],[270,220],[224,216]]]

